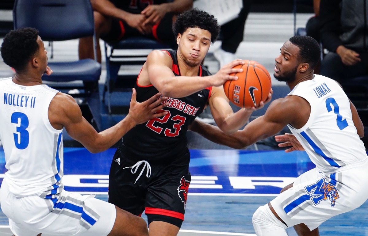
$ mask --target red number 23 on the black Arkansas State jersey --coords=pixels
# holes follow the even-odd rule
[[[158,112],[163,112],[166,110],[159,110]],[[158,118],[153,118],[151,120],[149,120],[146,124],[146,126],[150,129],[152,129],[153,131],[155,131],[156,133],[161,133],[163,128],[159,127],[159,126],[155,126],[154,123],[155,122],[159,122],[161,124],[165,124],[167,121],[169,121],[170,118],[170,111],[167,111],[168,113],[166,115],[164,115],[163,117],[158,117]],[[185,123],[185,117],[182,117],[181,115],[176,115],[173,118],[171,118],[171,120],[173,121],[179,121],[178,123],[174,124],[174,127],[172,129],[168,129],[166,128],[164,131],[165,136],[167,137],[176,137],[179,135],[179,131],[181,129],[181,126],[184,125]]]

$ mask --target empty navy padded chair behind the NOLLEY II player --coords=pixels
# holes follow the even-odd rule
[[[93,20],[93,10],[90,0],[15,0],[14,28],[33,27],[45,41],[63,41],[93,36],[94,54],[96,59],[96,36]],[[84,93],[72,94],[85,97],[92,113],[91,122],[96,122],[100,128],[100,99],[98,80],[101,75],[101,65],[93,59],[83,59],[67,62],[49,62],[53,74],[42,76],[43,81],[58,82],[56,89],[70,89],[71,81],[82,81],[85,85],[79,87]],[[89,85],[89,86],[86,86]],[[92,85],[92,86],[91,86]]]

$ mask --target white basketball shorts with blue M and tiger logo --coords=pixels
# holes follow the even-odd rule
[[[367,186],[367,159],[328,173],[314,168],[300,175],[271,205],[288,227],[304,223],[313,230],[362,205],[368,199]]]

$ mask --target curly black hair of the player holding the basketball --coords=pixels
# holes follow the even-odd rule
[[[173,32],[175,36],[177,36],[179,33],[183,34],[188,28],[197,27],[211,33],[212,43],[219,37],[220,25],[217,24],[217,19],[213,15],[201,11],[198,8],[184,11],[182,14],[178,15],[173,24]]]

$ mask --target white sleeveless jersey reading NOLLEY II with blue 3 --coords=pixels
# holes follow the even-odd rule
[[[51,198],[63,185],[62,130],[52,127],[49,105],[59,91],[0,79],[0,139],[9,190],[17,197]]]

